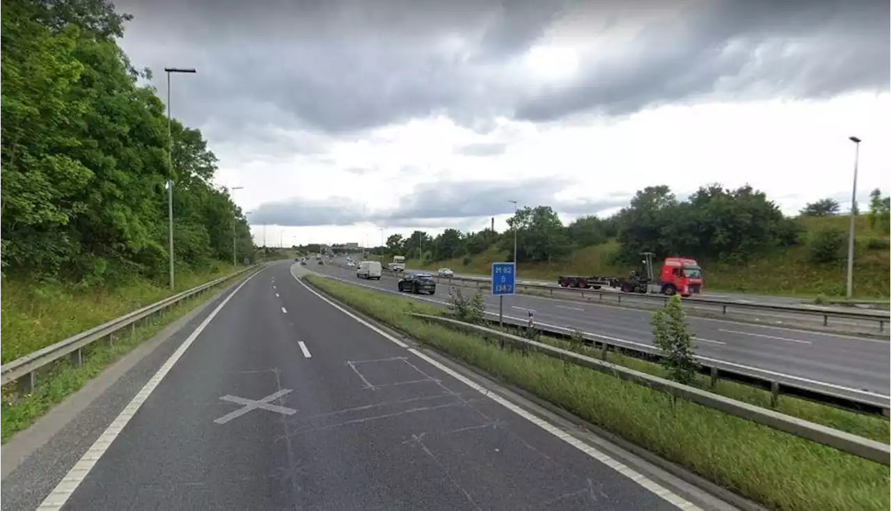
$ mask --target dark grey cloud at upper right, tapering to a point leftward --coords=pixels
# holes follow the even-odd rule
[[[695,7],[695,8],[694,8]],[[521,101],[520,119],[559,120],[720,99],[822,99],[891,87],[887,0],[715,0],[683,12],[683,31],[646,27],[634,50],[568,87]]]

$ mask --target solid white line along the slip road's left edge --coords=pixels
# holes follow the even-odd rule
[[[40,509],[61,509],[62,506],[68,502],[68,499],[71,497],[71,494],[74,493],[75,490],[78,489],[78,486],[81,482],[84,482],[86,476],[90,474],[90,471],[93,470],[93,467],[99,461],[105,451],[110,447],[111,442],[113,442],[120,432],[124,429],[124,426],[130,422],[130,419],[136,415],[136,412],[139,411],[139,408],[143,406],[145,400],[149,399],[151,392],[154,391],[158,384],[161,383],[161,380],[164,379],[170,369],[174,367],[177,361],[183,356],[185,350],[188,350],[192,343],[195,342],[195,339],[204,331],[204,329],[208,326],[211,320],[217,316],[219,311],[223,309],[226,303],[232,300],[232,297],[235,296],[235,293],[244,286],[244,284],[248,284],[250,279],[254,278],[259,274],[263,269],[261,268],[257,273],[252,276],[249,276],[235,288],[232,293],[229,293],[229,296],[226,296],[225,299],[217,305],[216,309],[210,312],[208,317],[204,318],[204,321],[200,323],[200,325],[195,328],[195,330],[190,334],[186,340],[180,344],[179,348],[170,355],[170,358],[164,362],[164,365],[161,366],[155,375],[151,376],[151,379],[143,385],[143,388],[136,393],[134,398],[130,400],[127,406],[121,410],[117,417],[107,428],[105,431],[99,435],[99,438],[93,442],[93,445],[90,446],[89,449],[86,449],[86,452],[74,466],[68,471],[68,474],[65,474],[62,477],[61,481],[56,485],[53,491],[50,492],[49,495],[40,503],[40,506],[37,507]]]

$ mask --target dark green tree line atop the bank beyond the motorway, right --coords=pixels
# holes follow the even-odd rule
[[[891,196],[883,198],[875,190],[872,197],[871,226],[891,234]],[[412,260],[421,256],[423,260],[463,258],[467,264],[471,256],[494,248],[502,251],[499,257],[512,260],[516,227],[519,262],[560,262],[574,249],[615,240],[617,250],[611,251],[610,262],[623,266],[636,264],[642,251],[655,252],[657,259],[689,256],[743,264],[803,245],[810,260],[830,263],[843,259],[846,231],[826,227],[807,235],[799,219],[838,215],[840,207],[833,201],[813,202],[797,218],[790,218],[766,194],[749,185],[735,189],[706,185],[683,200],[667,185],[648,186],[634,194],[627,207],[607,218],[586,216],[564,225],[550,206],[525,207],[508,219],[509,229],[502,233],[490,228],[466,233],[449,228],[432,236],[416,230],[411,235],[389,235],[386,245],[374,252]]]

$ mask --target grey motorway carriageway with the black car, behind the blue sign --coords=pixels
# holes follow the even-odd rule
[[[336,265],[308,267],[329,276],[361,284],[389,293],[416,296],[421,301],[446,305],[446,284],[437,284],[436,295],[398,293],[396,277],[386,274],[380,279],[356,277],[352,268]],[[472,293],[472,288],[465,292]],[[483,290],[486,311],[498,314],[498,298]],[[652,345],[652,310],[627,309],[582,301],[561,301],[516,294],[504,297],[504,316],[527,321],[527,311],[533,310],[539,326],[574,328],[621,341]],[[497,316],[495,316],[497,317]],[[812,383],[838,385],[843,395],[846,390],[871,391],[891,396],[891,342],[840,334],[815,333],[777,326],[751,325],[728,320],[688,317],[691,333],[695,335],[696,352],[702,357],[732,362],[743,367],[754,367],[780,375],[803,379],[797,383],[819,389]]]

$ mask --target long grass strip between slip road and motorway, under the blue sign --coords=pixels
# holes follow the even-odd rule
[[[672,400],[584,367],[535,353],[501,350],[480,337],[406,315],[410,310],[440,314],[441,309],[409,305],[406,299],[322,277],[307,278],[340,301],[437,350],[764,506],[806,511],[891,509],[891,469],[887,466],[688,401]],[[879,436],[883,434],[879,431]]]

